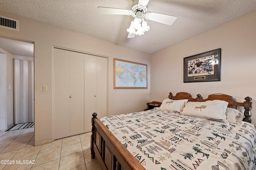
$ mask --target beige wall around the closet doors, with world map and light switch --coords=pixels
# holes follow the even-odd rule
[[[0,11],[1,16],[19,20],[19,31],[0,28],[0,36],[34,42],[35,142],[49,142],[53,137],[52,46],[109,57],[109,115],[142,111],[150,98],[150,55],[80,33],[29,20]],[[148,64],[148,89],[113,89],[113,58]],[[48,91],[42,91],[42,85]],[[91,115],[89,116],[89,118]],[[44,143],[44,142],[43,142]]]

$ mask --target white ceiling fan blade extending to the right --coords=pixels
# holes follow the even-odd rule
[[[177,19],[177,17],[175,17],[175,16],[158,14],[158,13],[154,13],[154,12],[146,13],[145,18],[148,20],[164,23],[166,25],[172,25],[172,23],[174,23],[174,21]]]

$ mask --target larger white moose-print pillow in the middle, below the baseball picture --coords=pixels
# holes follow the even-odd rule
[[[208,100],[206,102],[189,102],[182,111],[182,115],[201,117],[214,121],[226,121],[228,102],[223,100]]]

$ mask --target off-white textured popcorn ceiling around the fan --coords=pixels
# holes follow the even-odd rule
[[[154,53],[256,11],[256,0],[150,0],[148,11],[176,16],[171,25],[147,20],[150,30],[127,38],[132,16],[104,15],[97,7],[131,9],[134,0],[0,0],[0,10]]]

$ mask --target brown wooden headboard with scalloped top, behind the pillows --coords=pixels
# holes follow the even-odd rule
[[[244,106],[244,119],[243,121],[252,123],[252,98],[247,96],[244,98],[244,102],[236,102],[233,100],[232,96],[226,95],[226,94],[210,94],[207,99],[202,99],[202,96],[200,94],[196,95],[196,98],[192,98],[191,94],[186,93],[186,92],[178,92],[176,96],[172,95],[172,92],[169,93],[168,98],[172,100],[182,100],[182,99],[188,99],[188,101],[191,102],[205,102],[208,100],[224,100],[228,102],[228,107],[235,107],[238,109],[238,106]]]

